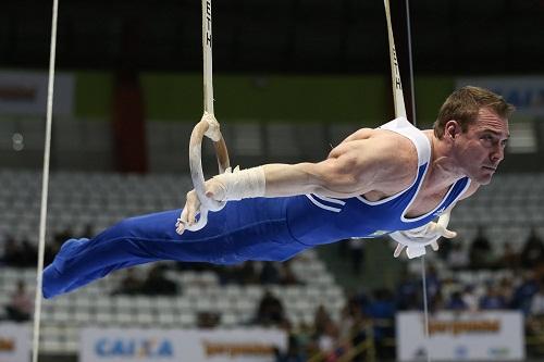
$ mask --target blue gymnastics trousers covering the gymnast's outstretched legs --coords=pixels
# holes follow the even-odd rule
[[[198,232],[175,233],[181,210],[126,219],[91,239],[70,239],[44,271],[51,298],[119,269],[159,261],[234,264],[283,261],[307,249],[290,234],[285,198],[230,201]]]

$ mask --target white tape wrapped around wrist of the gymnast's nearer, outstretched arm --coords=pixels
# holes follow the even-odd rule
[[[257,198],[264,196],[265,177],[262,166],[225,172],[213,176],[213,179],[221,183],[222,195],[215,195],[219,201],[242,200],[246,198]]]

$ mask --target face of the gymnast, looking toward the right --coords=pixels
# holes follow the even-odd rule
[[[461,171],[473,182],[487,185],[505,157],[508,120],[487,108],[479,111],[467,132],[456,135],[456,153]]]

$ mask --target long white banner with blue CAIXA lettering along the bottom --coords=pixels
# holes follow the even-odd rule
[[[84,328],[81,362],[273,362],[286,348],[277,329],[161,330]]]

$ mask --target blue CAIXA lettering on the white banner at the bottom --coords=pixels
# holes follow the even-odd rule
[[[100,338],[95,344],[95,352],[101,358],[163,359],[174,355],[173,344],[169,339],[157,338]]]

